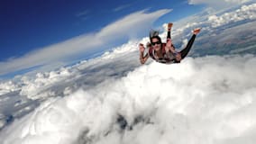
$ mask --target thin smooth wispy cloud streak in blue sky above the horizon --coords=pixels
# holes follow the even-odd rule
[[[0,62],[0,75],[40,65],[52,65],[65,62],[92,49],[103,47],[123,37],[133,37],[142,30],[147,30],[151,23],[161,15],[169,13],[164,9],[152,13],[140,11],[129,14],[123,19],[111,23],[101,31],[78,36],[51,46],[34,50],[21,58],[12,58]],[[147,25],[147,26],[145,26]],[[63,63],[62,63],[63,64]]]

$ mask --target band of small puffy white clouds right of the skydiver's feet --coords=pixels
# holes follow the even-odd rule
[[[229,30],[229,25],[242,25],[242,23],[255,23],[256,20],[256,4],[242,4],[240,7],[236,9],[232,9],[229,11],[222,11],[222,12],[215,12],[215,13],[207,13],[207,10],[202,12],[201,14],[192,15],[190,17],[187,17],[183,20],[180,20],[176,23],[174,23],[174,30],[172,31],[172,36],[174,39],[183,38],[184,36],[187,37],[187,33],[190,34],[190,31],[192,31],[195,28],[202,28],[201,32],[202,34],[210,34],[214,35],[215,32],[219,32],[218,28],[223,28],[223,31]],[[224,27],[226,26],[226,27]],[[244,28],[243,28],[244,29]],[[251,29],[250,27],[245,27],[245,29]],[[236,31],[243,31],[237,28]],[[232,36],[235,33],[238,34],[235,31],[229,31],[229,33],[226,33],[225,35]],[[206,37],[208,39],[208,37]],[[185,39],[185,38],[183,38]],[[220,38],[225,39],[225,38]],[[175,40],[177,41],[177,40]]]

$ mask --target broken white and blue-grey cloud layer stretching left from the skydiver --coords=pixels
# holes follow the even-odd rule
[[[137,42],[105,52],[99,58],[82,61],[75,66],[61,67],[36,75],[16,76],[0,83],[0,130],[17,118],[32,112],[50,97],[64,97],[78,89],[90,89],[105,79],[126,76],[141,64],[138,59]]]

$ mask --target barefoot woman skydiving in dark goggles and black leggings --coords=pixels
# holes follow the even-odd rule
[[[151,31],[150,40],[151,43],[147,44],[147,48],[149,48],[149,52],[144,56],[145,47],[142,43],[140,43],[140,61],[144,64],[149,57],[153,58],[157,62],[171,64],[171,63],[179,63],[181,59],[185,58],[191,49],[194,40],[196,39],[197,34],[200,32],[200,29],[195,29],[193,31],[193,36],[187,43],[187,47],[177,52],[175,50],[174,45],[170,39],[170,30],[172,27],[172,23],[168,24],[168,33],[167,33],[167,42],[162,43],[159,32]]]

